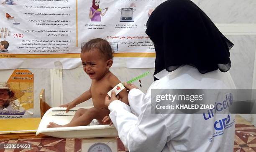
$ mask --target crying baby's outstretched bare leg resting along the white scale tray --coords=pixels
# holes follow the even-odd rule
[[[73,127],[73,126],[86,126],[89,125],[90,122],[93,119],[97,119],[97,114],[100,112],[100,110],[97,110],[96,108],[91,108],[89,110],[81,110],[80,114],[77,114],[72,121],[70,121],[67,125],[57,125],[53,122],[50,122],[50,124],[47,127]],[[82,113],[84,112],[84,113]],[[77,112],[76,112],[77,113]]]

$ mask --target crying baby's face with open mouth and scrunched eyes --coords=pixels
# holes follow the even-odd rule
[[[97,50],[81,53],[84,72],[92,80],[100,80],[108,72],[106,60]]]

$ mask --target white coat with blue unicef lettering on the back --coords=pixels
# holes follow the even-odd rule
[[[130,107],[119,100],[108,106],[125,147],[130,152],[233,152],[233,114],[218,114],[207,120],[202,114],[151,114],[152,88],[235,88],[229,72],[215,70],[201,74],[185,65],[160,78],[146,94],[130,90]],[[218,123],[228,118],[225,128],[215,129],[214,125],[220,126]]]

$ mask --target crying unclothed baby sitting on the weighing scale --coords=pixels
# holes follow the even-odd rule
[[[90,89],[72,102],[60,107],[67,107],[66,111],[69,111],[70,108],[90,98],[92,98],[94,107],[80,108],[66,125],[61,126],[50,122],[47,127],[85,126],[89,125],[93,119],[98,120],[100,124],[110,124],[111,120],[108,117],[110,111],[108,107],[105,107],[104,100],[107,93],[120,83],[120,80],[109,70],[113,64],[113,50],[109,42],[100,38],[90,40],[82,47],[81,60],[84,72],[92,79]],[[127,90],[122,90],[118,95],[128,105]]]

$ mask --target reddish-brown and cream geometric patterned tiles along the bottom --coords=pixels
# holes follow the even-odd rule
[[[31,149],[3,148],[3,144],[30,144]],[[118,142],[119,152],[125,152],[123,145]],[[0,140],[0,152],[81,152],[80,139],[34,138],[18,140]],[[256,152],[256,127],[240,116],[236,116],[236,133],[234,152]]]

